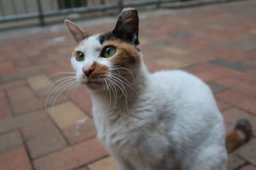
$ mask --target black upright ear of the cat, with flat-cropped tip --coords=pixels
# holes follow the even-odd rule
[[[139,17],[134,8],[124,8],[118,17],[116,27],[112,33],[124,41],[138,45]]]

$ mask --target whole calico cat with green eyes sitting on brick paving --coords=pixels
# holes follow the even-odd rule
[[[181,70],[150,73],[136,9],[122,10],[104,34],[65,24],[78,43],[71,57],[76,80],[90,92],[97,136],[118,170],[227,168],[227,148],[248,140],[250,123],[240,120],[226,143],[223,117],[202,80]]]

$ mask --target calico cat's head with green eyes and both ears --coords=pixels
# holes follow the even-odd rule
[[[137,10],[125,8],[115,29],[102,34],[88,34],[68,20],[65,24],[78,43],[71,59],[77,81],[103,89],[104,83],[122,87],[134,80],[142,60]]]

